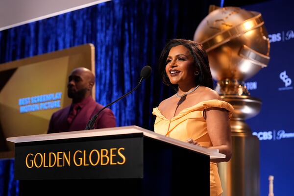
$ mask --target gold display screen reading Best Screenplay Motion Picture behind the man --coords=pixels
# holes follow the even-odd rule
[[[87,44],[0,64],[0,143],[7,137],[47,133],[52,113],[71,104],[69,74],[77,67],[95,73],[94,55],[94,46]],[[12,150],[13,144],[2,148]]]

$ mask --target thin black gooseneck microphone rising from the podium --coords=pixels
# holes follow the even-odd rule
[[[105,108],[109,107],[110,105],[114,104],[115,102],[121,100],[122,98],[125,98],[126,96],[128,96],[129,94],[131,94],[133,91],[135,91],[142,83],[143,79],[147,79],[150,75],[151,75],[151,72],[152,72],[152,68],[150,66],[144,66],[141,70],[141,79],[140,79],[140,82],[139,84],[133,89],[131,90],[130,92],[126,93],[125,95],[123,95],[122,97],[116,99],[115,101],[112,101],[111,103],[109,103],[108,105],[106,105],[105,107],[103,107],[101,110],[98,111],[97,114],[95,114],[93,116],[93,118],[87,123],[86,125],[86,128],[85,130],[90,130],[90,129],[93,129],[94,127],[94,124],[96,122],[96,119],[98,117],[98,114],[104,110]]]

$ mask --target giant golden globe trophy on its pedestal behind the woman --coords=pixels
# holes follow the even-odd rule
[[[239,7],[210,6],[194,40],[208,53],[216,91],[234,107],[231,119],[233,156],[219,164],[223,196],[259,196],[259,141],[245,120],[256,116],[262,101],[244,81],[267,67],[270,42],[261,14]]]

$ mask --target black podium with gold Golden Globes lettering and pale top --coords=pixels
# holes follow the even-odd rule
[[[7,140],[21,196],[209,196],[210,158],[224,158],[138,126]]]

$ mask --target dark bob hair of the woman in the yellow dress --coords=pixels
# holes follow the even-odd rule
[[[159,72],[161,74],[161,79],[163,83],[167,86],[173,87],[176,91],[178,90],[178,85],[173,85],[166,73],[167,57],[170,50],[173,47],[183,45],[189,49],[191,55],[194,58],[194,66],[199,74],[195,77],[195,85],[206,86],[213,89],[212,76],[209,68],[208,57],[203,46],[195,41],[183,40],[183,39],[173,39],[162,50],[159,57]]]

